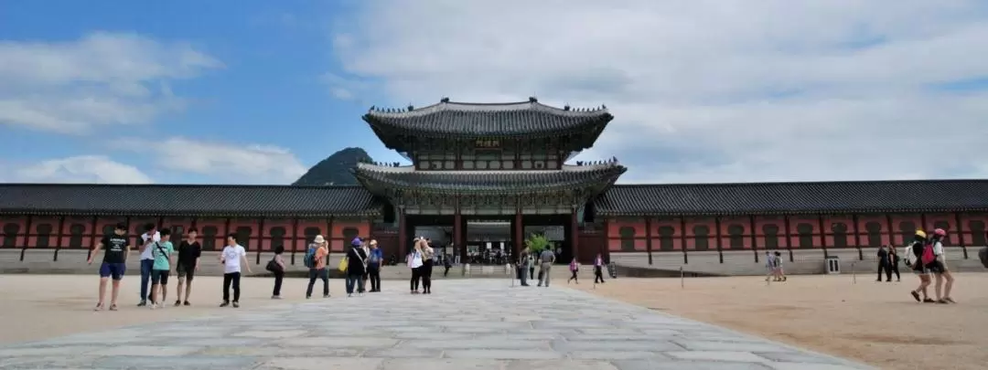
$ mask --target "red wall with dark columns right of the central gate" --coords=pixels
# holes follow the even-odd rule
[[[718,241],[723,251],[902,246],[918,228],[947,230],[947,246],[988,245],[988,213],[652,217],[648,221],[608,218],[608,251],[646,252],[649,239],[653,252],[716,251]]]

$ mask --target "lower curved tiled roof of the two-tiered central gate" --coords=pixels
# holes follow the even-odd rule
[[[563,170],[416,171],[362,163],[354,175],[371,187],[422,188],[450,192],[529,192],[583,185],[613,184],[627,169],[617,162],[563,166]]]

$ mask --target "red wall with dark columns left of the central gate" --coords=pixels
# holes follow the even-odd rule
[[[127,216],[0,216],[0,248],[7,249],[91,249],[103,235],[113,232],[118,223],[128,225],[129,235],[136,238],[147,223],[172,229],[173,241],[190,228],[199,229],[199,240],[206,251],[218,251],[226,235],[237,233],[240,245],[248,251],[272,251],[284,246],[287,251],[304,251],[305,246],[322,235],[330,241],[332,252],[357,236],[369,237],[371,221],[361,218],[260,219],[260,218],[164,218]],[[134,242],[136,243],[136,242]]]

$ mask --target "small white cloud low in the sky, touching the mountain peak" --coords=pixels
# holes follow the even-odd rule
[[[148,151],[144,145],[130,149]],[[287,149],[265,145],[173,137],[156,145],[148,154],[155,167],[170,173],[205,175],[227,184],[288,184],[307,170]]]

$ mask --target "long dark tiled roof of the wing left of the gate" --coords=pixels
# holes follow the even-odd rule
[[[0,184],[0,213],[330,216],[375,215],[361,186]]]

